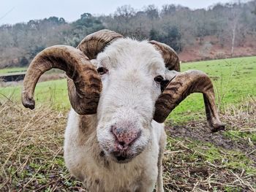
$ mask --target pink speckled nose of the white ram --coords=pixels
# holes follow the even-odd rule
[[[127,149],[128,145],[135,141],[138,137],[140,137],[140,130],[131,130],[129,128],[117,128],[116,126],[112,126],[111,129],[113,135],[116,138],[116,144],[118,144],[118,150]]]

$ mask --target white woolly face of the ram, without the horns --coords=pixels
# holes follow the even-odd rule
[[[119,39],[94,61],[102,77],[97,138],[105,153],[124,163],[151,140],[154,104],[165,78],[162,56],[148,42]]]

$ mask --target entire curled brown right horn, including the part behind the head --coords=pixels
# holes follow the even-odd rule
[[[167,69],[180,72],[178,55],[171,47],[156,41],[150,43],[162,53]],[[211,79],[207,74],[197,70],[177,73],[170,80],[156,101],[154,120],[163,123],[170,112],[191,93],[203,93],[206,118],[211,131],[216,132],[224,129],[225,125],[219,120]]]

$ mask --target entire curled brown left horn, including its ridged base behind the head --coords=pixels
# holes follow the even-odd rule
[[[96,113],[102,82],[89,60],[96,58],[106,45],[121,37],[113,31],[101,30],[85,37],[77,49],[57,45],[42,50],[31,62],[23,82],[24,107],[34,109],[34,88],[39,77],[57,68],[67,73],[69,100],[75,112],[80,115]]]

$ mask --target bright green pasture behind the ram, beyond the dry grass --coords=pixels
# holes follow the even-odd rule
[[[24,68],[6,69],[14,71]],[[256,57],[231,58],[181,64],[181,71],[199,69],[206,72],[214,82],[216,100],[220,110],[230,104],[239,104],[249,96],[256,95]],[[54,69],[56,70],[56,69]],[[1,71],[0,71],[1,72]],[[20,99],[21,86],[0,88],[0,92],[12,99]],[[53,104],[58,109],[69,109],[66,80],[40,82],[35,92],[36,104]],[[204,117],[203,96],[190,95],[170,115],[170,120],[180,123]]]

